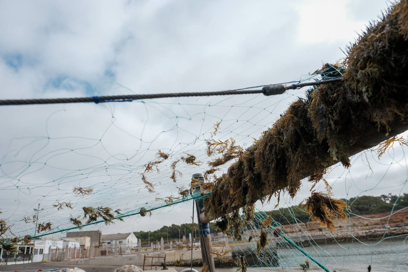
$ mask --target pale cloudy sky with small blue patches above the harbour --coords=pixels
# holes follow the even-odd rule
[[[134,93],[220,91],[305,80],[335,62],[346,44],[387,7],[370,1],[0,1],[1,99],[81,97]],[[242,95],[134,102],[1,106],[2,218],[18,235],[34,225],[19,221],[41,204],[40,222],[69,228],[84,206],[132,213],[162,206],[188,188],[208,158],[204,139],[221,122],[219,139],[248,146],[305,90],[275,97]],[[170,158],[146,173],[157,150]],[[336,197],[407,192],[404,149],[368,151],[353,167],[327,177]],[[395,152],[395,153],[393,153]],[[202,166],[172,161],[195,155]],[[370,172],[370,164],[373,172]],[[75,196],[74,186],[94,189]],[[296,205],[310,192],[308,184]],[[324,186],[320,186],[323,190]],[[157,200],[156,200],[157,199]],[[57,210],[58,202],[73,210]],[[191,221],[192,202],[162,208],[124,223],[90,226],[103,233],[155,230]],[[275,200],[259,209],[271,210]],[[62,234],[63,235],[63,234]]]

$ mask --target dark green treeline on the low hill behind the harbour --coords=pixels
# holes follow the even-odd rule
[[[401,208],[408,207],[408,193],[404,193],[401,197],[398,198],[396,195],[381,195],[379,197],[373,197],[369,195],[363,195],[360,197],[351,197],[348,201],[344,200],[350,208],[347,210],[351,215],[368,215],[374,214],[377,212],[388,212],[392,210],[395,206],[394,210],[398,210]],[[281,223],[282,225],[286,224],[293,224],[295,222],[307,222],[310,220],[310,215],[306,210],[303,209],[303,206],[290,206],[288,208],[280,208],[279,210],[272,210],[266,212],[266,214],[271,215],[273,220]],[[256,217],[254,220],[255,226],[257,223],[260,225],[261,222],[257,222]],[[169,239],[178,239],[179,238],[179,230],[180,230],[180,237],[184,235],[184,228],[186,228],[186,237],[188,237],[188,233],[195,233],[197,231],[198,235],[198,228],[197,224],[194,223],[194,230],[191,231],[191,223],[184,223],[181,225],[172,224],[171,226],[163,226],[158,230],[154,230],[150,232],[150,241],[160,240],[160,238],[167,238],[167,232],[169,232]],[[220,229],[215,226],[215,223],[210,222],[210,230],[211,232],[219,232]],[[319,229],[320,230],[320,229]],[[321,231],[321,230],[320,230]],[[141,238],[142,241],[147,241],[149,239],[149,233],[145,231],[134,232],[137,238]],[[195,235],[195,234],[194,234]]]

